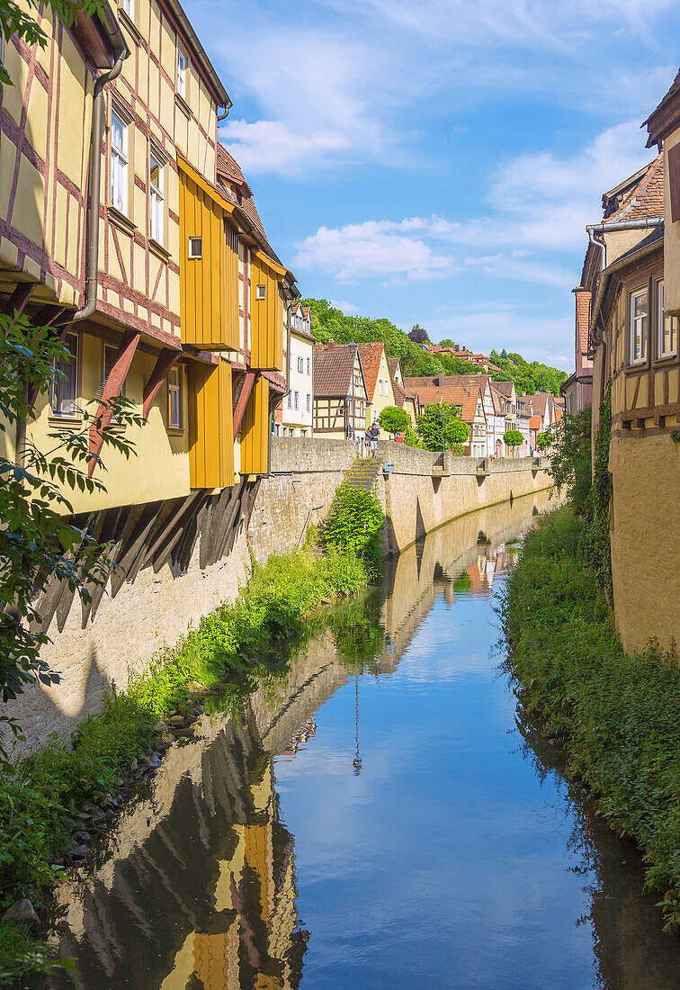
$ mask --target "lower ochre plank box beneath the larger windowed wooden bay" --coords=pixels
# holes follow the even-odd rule
[[[234,484],[232,365],[192,361],[189,365],[189,485],[225,488]]]

